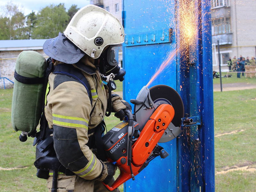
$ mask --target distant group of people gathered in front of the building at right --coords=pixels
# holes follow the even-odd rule
[[[240,55],[240,58],[236,59],[236,56],[231,60],[231,57],[229,57],[228,60],[228,69],[229,71],[237,71],[240,73],[237,73],[237,78],[240,78],[241,72],[242,76],[244,76],[245,72],[245,65],[251,65],[256,66],[255,58],[252,56],[251,60],[249,60],[249,57],[246,57],[246,60],[242,55]]]

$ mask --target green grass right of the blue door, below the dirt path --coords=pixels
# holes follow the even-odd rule
[[[255,168],[256,89],[213,95],[215,172],[248,165]],[[216,175],[215,191],[252,192],[256,189],[255,181],[255,171],[225,172]]]

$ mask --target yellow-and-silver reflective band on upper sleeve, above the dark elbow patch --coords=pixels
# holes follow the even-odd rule
[[[68,127],[82,127],[88,130],[88,121],[80,117],[70,117],[52,114],[52,123]]]

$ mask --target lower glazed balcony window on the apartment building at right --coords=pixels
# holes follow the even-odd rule
[[[231,33],[230,17],[212,20],[212,35]]]

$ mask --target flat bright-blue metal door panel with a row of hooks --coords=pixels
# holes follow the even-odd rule
[[[173,1],[174,2],[174,1]],[[170,28],[174,23],[166,8],[159,1],[150,4],[142,1],[124,1],[124,31],[125,43],[123,49],[123,67],[126,71],[124,79],[124,99],[135,99],[140,89],[147,85],[156,69],[164,62],[170,52],[175,52],[176,43]],[[173,19],[174,20],[174,19]],[[171,31],[171,30],[170,30]],[[170,38],[169,38],[170,34]],[[148,42],[147,42],[148,36]],[[145,40],[145,41],[144,41]],[[148,88],[157,85],[169,85],[177,90],[177,63],[169,62],[168,67]],[[169,153],[165,159],[157,157],[135,180],[129,180],[124,185],[124,191],[177,191],[177,144],[176,139],[159,145]]]

